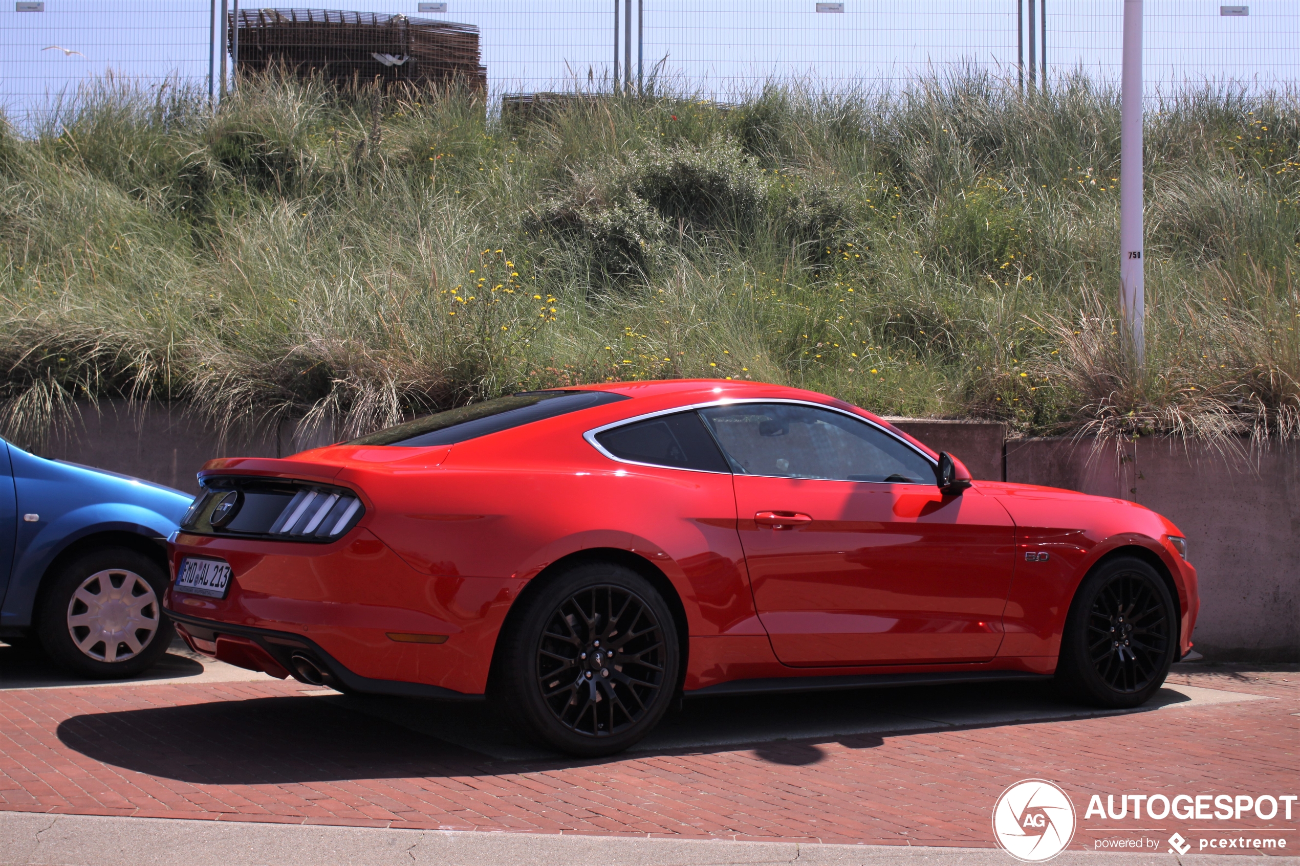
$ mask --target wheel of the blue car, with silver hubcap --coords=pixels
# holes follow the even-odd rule
[[[172,645],[162,610],[166,573],[130,548],[88,551],[51,575],[39,617],[52,661],[90,679],[126,679]]]

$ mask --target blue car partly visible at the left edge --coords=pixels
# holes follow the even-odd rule
[[[173,634],[164,541],[192,499],[0,440],[0,640],[96,679],[152,666]]]

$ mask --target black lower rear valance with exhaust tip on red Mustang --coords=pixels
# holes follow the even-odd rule
[[[168,615],[177,623],[177,631],[195,652],[216,657],[238,667],[260,670],[280,679],[283,679],[285,674],[290,674],[302,683],[309,686],[320,684],[312,683],[299,674],[299,665],[295,663],[294,656],[302,656],[313,662],[320,670],[328,671],[343,689],[350,692],[426,697],[439,701],[484,700],[482,695],[455,692],[441,686],[361,676],[348,670],[337,658],[321,649],[316,641],[303,635],[256,628],[254,626],[237,626],[216,619],[203,619],[202,617],[177,613],[176,610],[168,610]]]

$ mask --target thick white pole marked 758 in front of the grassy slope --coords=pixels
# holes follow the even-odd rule
[[[1124,0],[1124,66],[1119,109],[1119,306],[1138,367],[1145,358],[1143,318],[1141,3]]]

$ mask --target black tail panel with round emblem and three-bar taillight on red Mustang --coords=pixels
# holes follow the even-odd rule
[[[187,532],[333,541],[365,513],[346,487],[256,476],[209,476],[203,486],[181,523]]]

